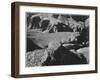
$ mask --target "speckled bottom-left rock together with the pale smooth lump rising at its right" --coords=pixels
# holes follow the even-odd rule
[[[50,42],[48,48],[37,49],[26,53],[26,67],[48,65],[54,58],[54,51],[61,46],[60,43]],[[48,62],[48,63],[47,63]]]

